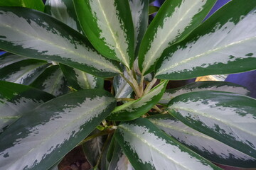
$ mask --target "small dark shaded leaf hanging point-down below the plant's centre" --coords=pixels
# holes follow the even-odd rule
[[[100,130],[94,130],[90,135],[95,135],[99,132]],[[97,160],[100,159],[103,143],[103,137],[98,136],[82,144],[83,152],[85,153],[86,159],[90,165],[95,166],[97,164]]]

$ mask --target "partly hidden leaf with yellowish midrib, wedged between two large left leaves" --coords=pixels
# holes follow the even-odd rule
[[[82,72],[79,69],[60,64],[60,68],[74,89],[103,89],[104,79],[95,77],[92,74]]]

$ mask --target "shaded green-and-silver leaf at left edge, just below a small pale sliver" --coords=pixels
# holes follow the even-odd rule
[[[21,60],[0,69],[0,80],[16,84],[31,84],[47,67],[41,60]]]

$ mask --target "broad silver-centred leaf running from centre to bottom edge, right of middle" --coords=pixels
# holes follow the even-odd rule
[[[115,137],[134,169],[220,169],[144,118],[122,123]]]

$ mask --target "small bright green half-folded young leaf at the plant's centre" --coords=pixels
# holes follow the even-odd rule
[[[161,96],[163,96],[167,83],[168,81],[163,81],[141,98],[135,101],[129,101],[121,106],[117,106],[114,108],[111,115],[107,117],[107,120],[134,120],[144,115],[154,105],[156,105]]]

